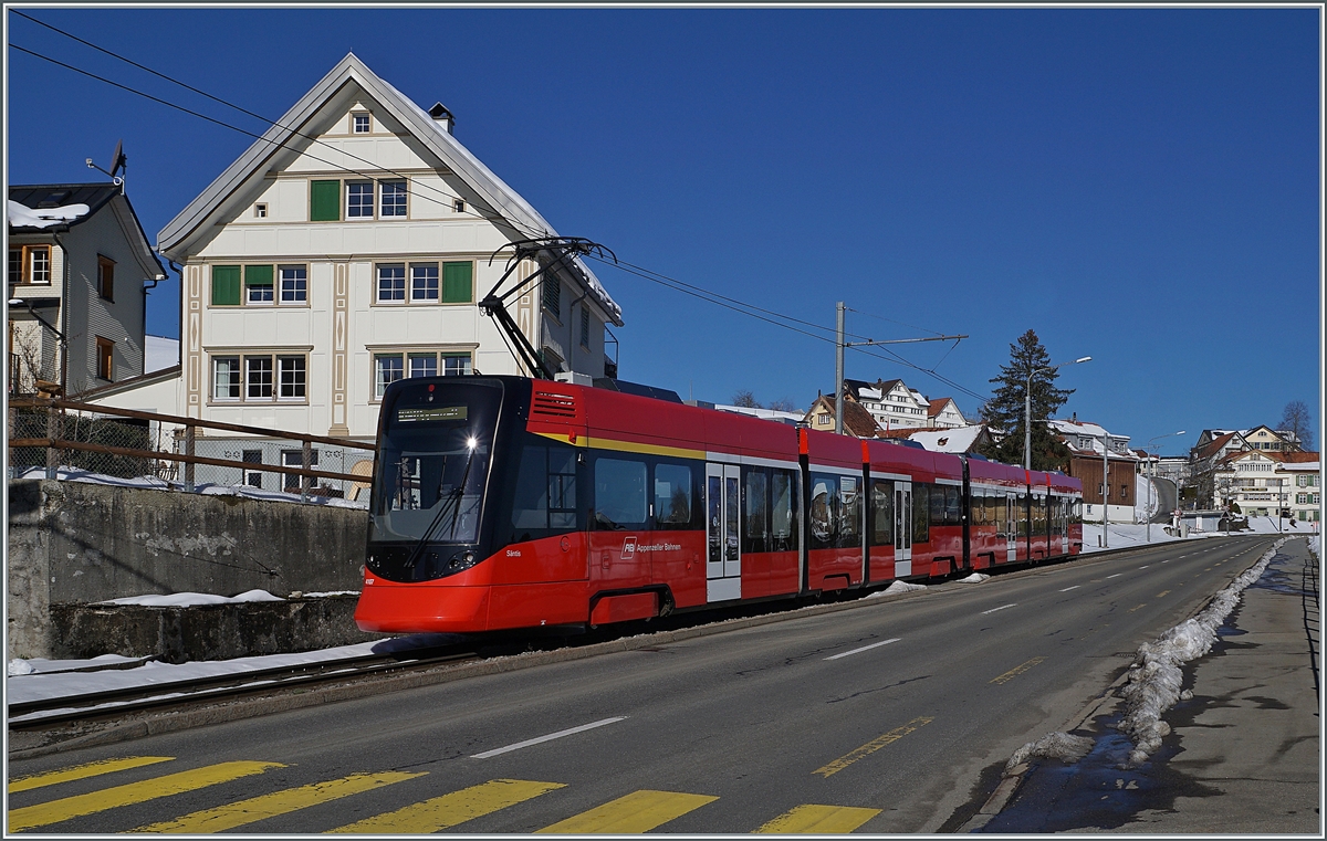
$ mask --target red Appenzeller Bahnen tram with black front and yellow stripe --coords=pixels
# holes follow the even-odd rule
[[[369,631],[605,625],[1082,550],[1060,474],[522,377],[382,399]]]

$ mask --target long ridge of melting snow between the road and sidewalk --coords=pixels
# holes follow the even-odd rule
[[[1212,649],[1212,643],[1217,639],[1217,629],[1234,610],[1241,593],[1262,576],[1277,549],[1287,540],[1290,539],[1278,540],[1257,564],[1217,593],[1197,617],[1139,646],[1135,665],[1131,666],[1129,682],[1120,690],[1125,714],[1119,730],[1135,744],[1129,752],[1129,767],[1147,761],[1148,756],[1161,747],[1161,739],[1170,732],[1170,726],[1161,720],[1161,714],[1181,699],[1180,686],[1184,673],[1180,666]]]

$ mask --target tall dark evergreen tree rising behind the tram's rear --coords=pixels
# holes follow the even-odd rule
[[[1005,438],[986,448],[982,455],[1005,462],[1023,463],[1023,427],[1026,418],[1024,395],[1028,374],[1032,383],[1032,470],[1066,470],[1070,464],[1070,450],[1046,426],[1046,418],[1054,418],[1060,406],[1074,394],[1074,389],[1056,389],[1059,371],[1048,370],[1051,357],[1046,353],[1036,333],[1028,330],[1009,346],[1009,365],[1002,365],[999,377],[990,379],[999,383],[991,399],[982,406],[982,422],[1002,430]],[[1043,370],[1038,370],[1043,369]],[[1043,420],[1043,423],[1038,423]]]

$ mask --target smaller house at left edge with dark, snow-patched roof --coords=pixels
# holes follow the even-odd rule
[[[166,279],[121,183],[11,186],[9,393],[80,397],[143,373]]]

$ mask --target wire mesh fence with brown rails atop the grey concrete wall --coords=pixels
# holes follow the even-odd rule
[[[369,442],[73,401],[9,403],[11,479],[78,479],[365,505]]]

